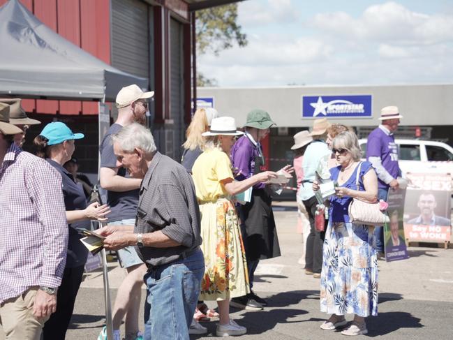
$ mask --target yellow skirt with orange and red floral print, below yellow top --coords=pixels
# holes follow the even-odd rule
[[[230,300],[250,293],[244,244],[235,206],[224,198],[200,204],[205,276],[200,300]]]

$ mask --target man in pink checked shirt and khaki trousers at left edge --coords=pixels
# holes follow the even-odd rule
[[[38,340],[57,306],[68,226],[59,173],[17,133],[0,103],[0,325],[8,340]]]

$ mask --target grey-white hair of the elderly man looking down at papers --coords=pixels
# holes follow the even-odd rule
[[[151,131],[138,123],[124,126],[112,135],[112,145],[114,143],[118,143],[123,151],[129,153],[138,148],[143,150],[145,154],[151,155],[157,149]]]

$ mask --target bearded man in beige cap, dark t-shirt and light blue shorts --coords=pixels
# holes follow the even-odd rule
[[[108,129],[100,147],[101,186],[107,190],[107,204],[112,210],[107,215],[109,224],[130,225],[135,222],[138,189],[140,188],[140,179],[129,177],[128,170],[121,168],[121,164],[117,161],[111,142],[112,135],[120,131],[123,126],[128,126],[133,122],[144,124],[147,99],[153,95],[154,92],[143,92],[135,84],[123,87],[117,95],[118,119]],[[119,286],[117,299],[114,302],[113,340],[121,339],[119,327],[125,315],[126,338],[131,334],[137,336],[139,333],[138,309],[140,308],[143,276],[146,272],[146,266],[132,246],[119,250],[118,256],[128,274]]]

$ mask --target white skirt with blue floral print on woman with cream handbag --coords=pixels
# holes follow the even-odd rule
[[[378,315],[378,259],[373,227],[329,223],[322,248],[321,311]]]

